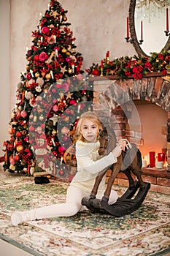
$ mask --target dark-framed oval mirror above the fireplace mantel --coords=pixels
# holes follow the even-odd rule
[[[170,0],[130,1],[129,29],[131,41],[139,56],[150,56],[150,53],[161,53],[169,48],[170,37],[164,32],[167,26],[169,29],[170,19],[166,16],[168,7],[167,11],[170,12]]]

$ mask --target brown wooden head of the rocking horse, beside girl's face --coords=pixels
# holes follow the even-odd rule
[[[101,129],[99,133],[100,148],[98,154],[104,156],[109,154],[116,146],[116,136],[114,131],[107,132],[107,129]]]

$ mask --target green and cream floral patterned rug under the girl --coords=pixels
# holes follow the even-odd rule
[[[170,196],[148,192],[142,206],[125,217],[83,211],[60,217],[10,223],[13,211],[64,202],[68,184],[37,185],[26,176],[0,181],[0,238],[31,253],[47,256],[134,256],[170,252]],[[125,188],[116,187],[119,195]]]

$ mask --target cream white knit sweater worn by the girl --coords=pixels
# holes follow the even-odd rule
[[[113,154],[109,153],[105,157],[100,157],[98,154],[99,141],[96,143],[85,143],[78,140],[76,143],[76,158],[77,158],[77,173],[72,179],[71,185],[79,187],[90,194],[95,183],[98,173],[117,162]],[[98,187],[98,192],[105,190],[106,174]]]

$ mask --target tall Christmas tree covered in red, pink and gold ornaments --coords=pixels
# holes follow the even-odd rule
[[[76,165],[70,154],[74,128],[80,113],[90,109],[92,90],[82,75],[82,55],[75,50],[66,13],[51,0],[32,33],[9,122],[10,138],[4,142],[4,170],[9,172],[68,177],[68,163]]]

